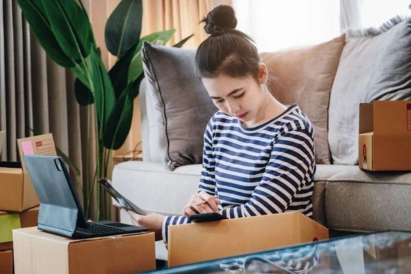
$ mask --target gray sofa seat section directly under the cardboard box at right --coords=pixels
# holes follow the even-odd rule
[[[325,190],[327,225],[351,232],[410,230],[410,197],[411,173],[338,173]]]

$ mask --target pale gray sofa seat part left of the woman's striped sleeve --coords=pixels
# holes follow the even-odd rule
[[[178,215],[197,193],[200,176],[201,164],[167,171],[162,163],[129,161],[114,166],[112,182],[143,210]]]

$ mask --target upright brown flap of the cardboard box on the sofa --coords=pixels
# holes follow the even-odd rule
[[[411,101],[374,101],[375,135],[411,135]]]

